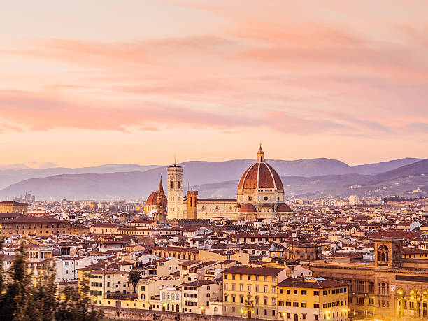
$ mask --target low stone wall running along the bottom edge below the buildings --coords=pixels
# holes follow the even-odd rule
[[[98,307],[96,307],[98,308]],[[162,321],[242,321],[241,317],[227,317],[224,315],[201,315],[193,313],[173,313],[143,309],[106,308],[102,307],[104,318],[113,320],[162,320]],[[262,319],[252,318],[252,321]]]

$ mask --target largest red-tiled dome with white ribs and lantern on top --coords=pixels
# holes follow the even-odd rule
[[[256,162],[243,173],[238,190],[256,190],[259,188],[276,188],[283,190],[283,182],[275,169],[266,163],[262,145],[257,152]]]

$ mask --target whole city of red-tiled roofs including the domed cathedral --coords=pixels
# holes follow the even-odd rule
[[[35,275],[87,278],[111,318],[427,320],[428,199],[285,200],[262,146],[236,199],[184,194],[183,168],[166,171],[143,201],[1,201],[3,269],[24,243]]]

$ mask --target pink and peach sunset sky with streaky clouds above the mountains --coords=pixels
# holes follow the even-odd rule
[[[0,164],[428,157],[428,1],[5,1]]]

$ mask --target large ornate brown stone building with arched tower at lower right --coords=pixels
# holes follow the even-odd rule
[[[374,262],[301,262],[313,276],[348,283],[352,318],[427,320],[428,258],[409,257],[402,238],[375,238]],[[407,256],[408,255],[408,256]]]

